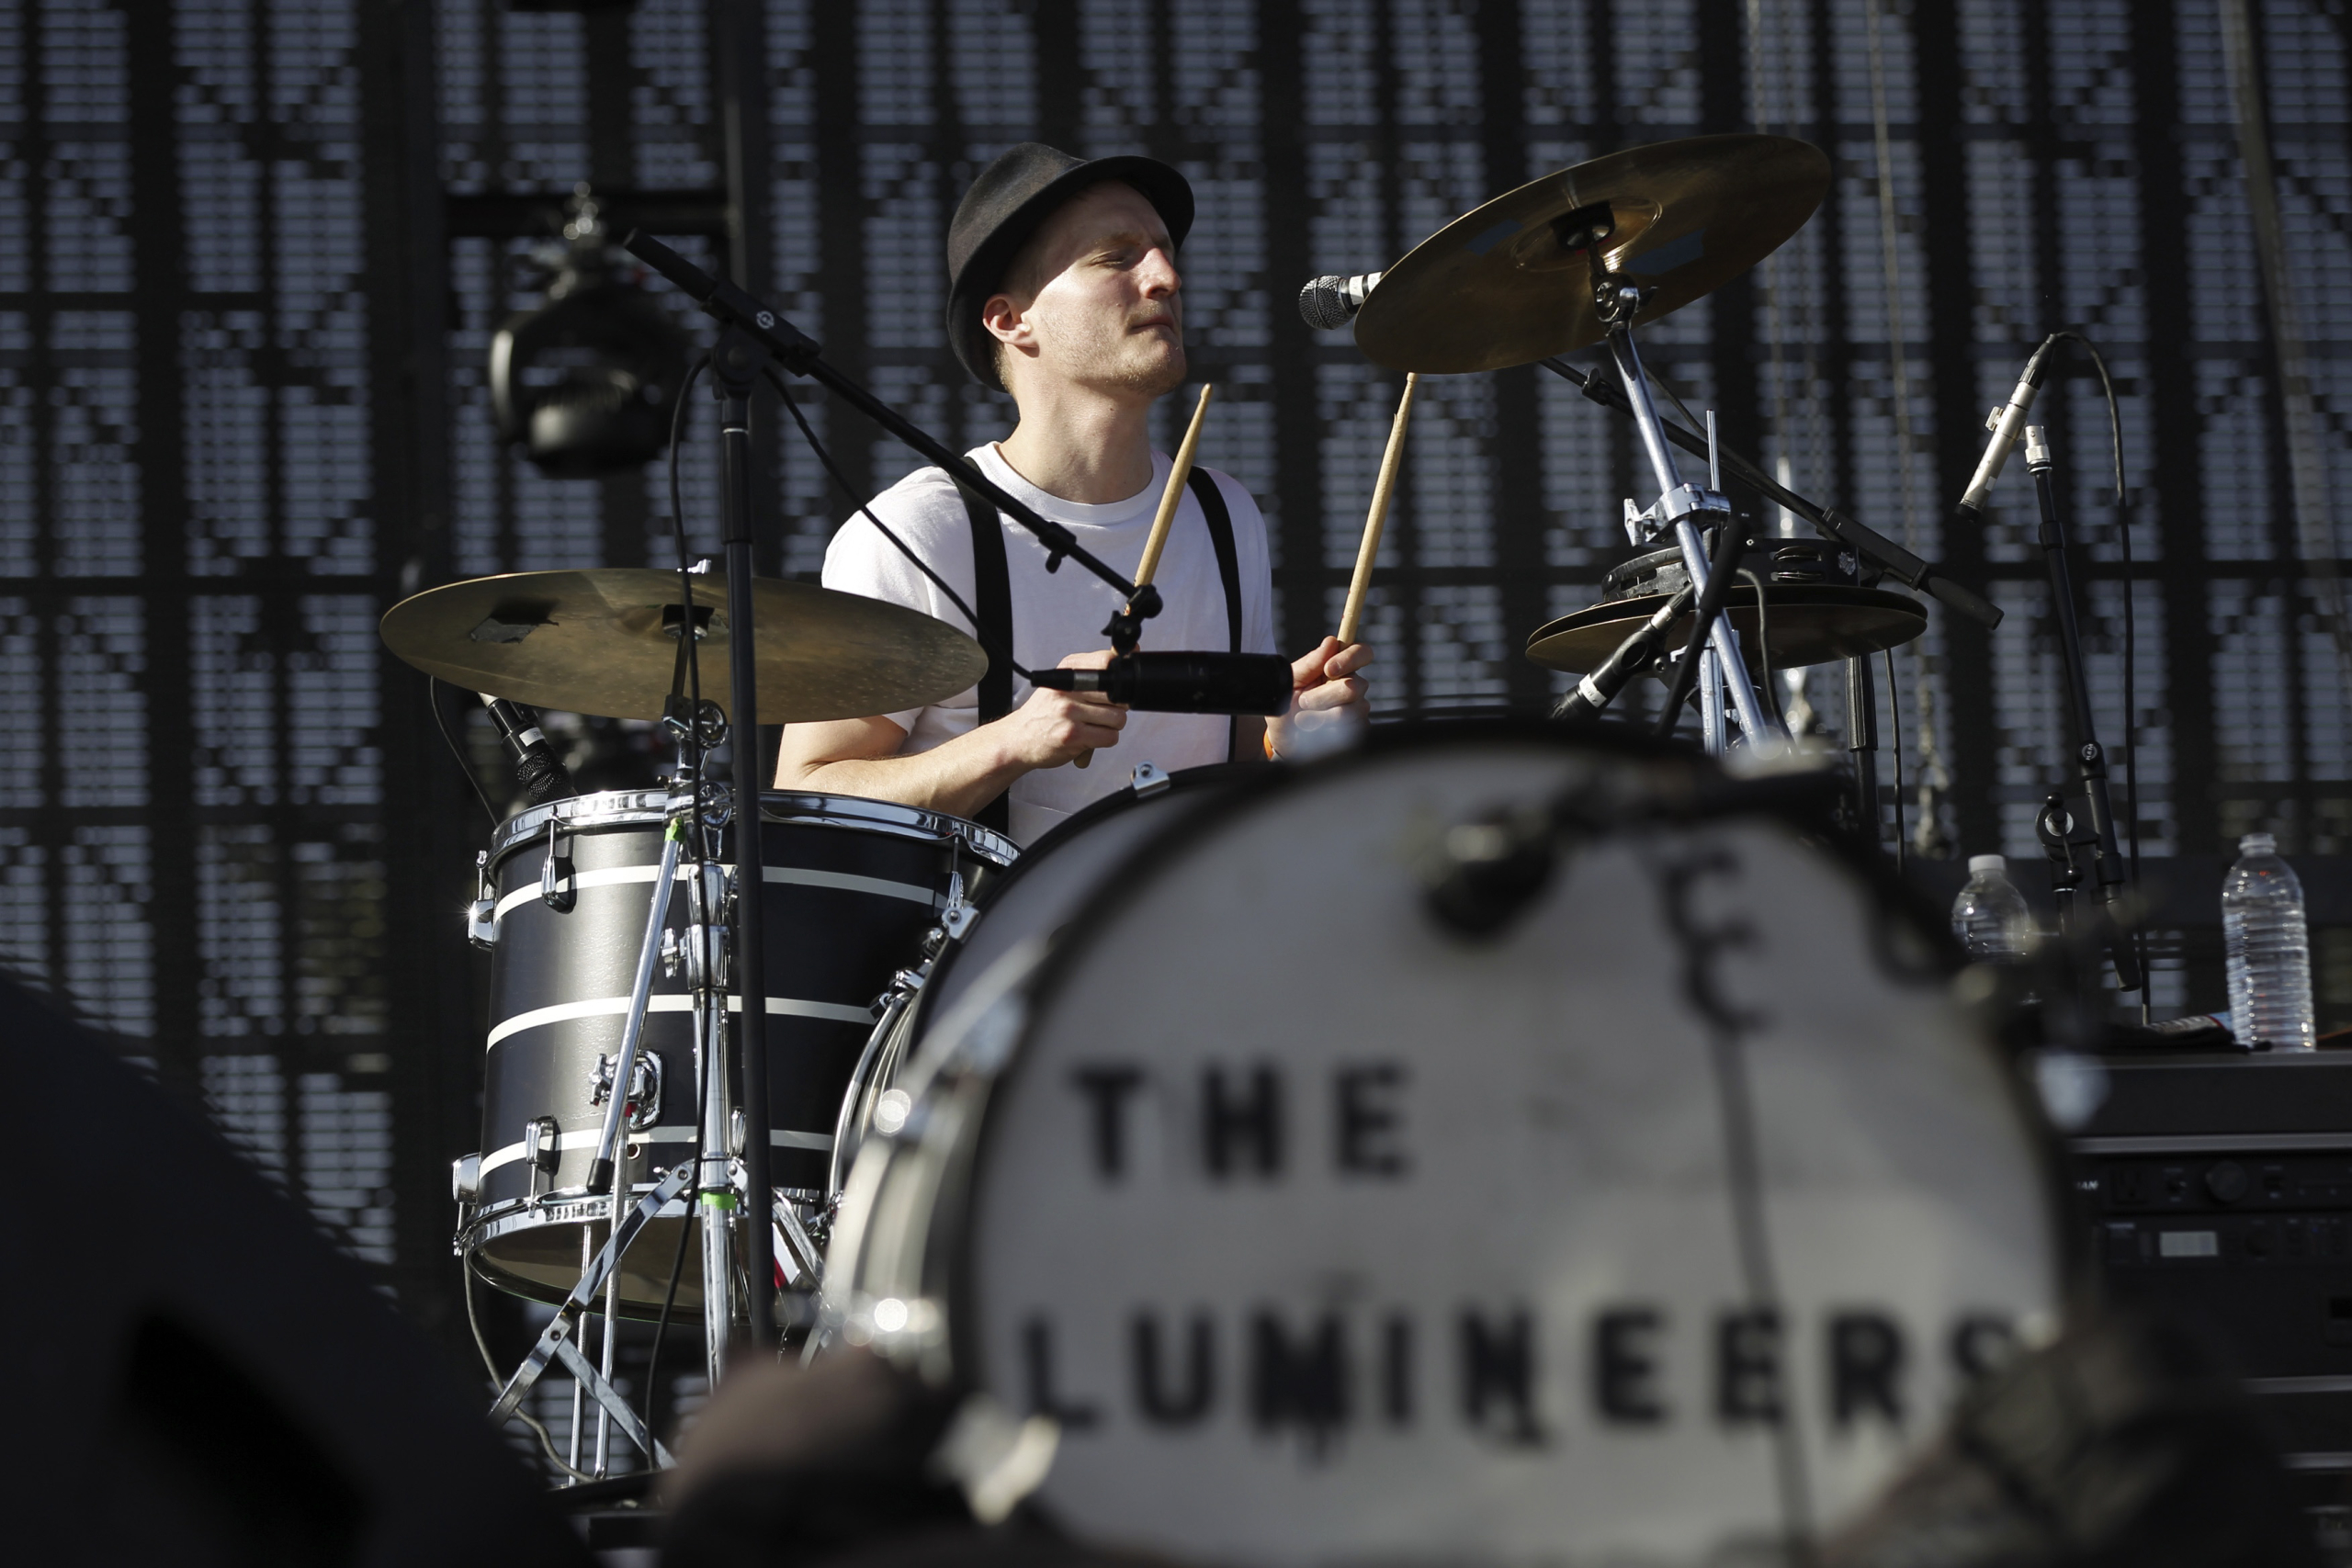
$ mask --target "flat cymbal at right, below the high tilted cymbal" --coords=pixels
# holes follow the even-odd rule
[[[1536,635],[1526,639],[1526,656],[1545,670],[1566,670],[1569,675],[1599,670],[1632,628],[1656,616],[1668,597],[1606,599],[1573,616],[1562,616],[1536,628]],[[1919,599],[1884,588],[1773,583],[1764,590],[1764,611],[1771,623],[1773,670],[1825,665],[1832,658],[1896,649],[1926,630],[1926,609]],[[1733,588],[1724,614],[1731,616],[1740,637],[1740,656],[1752,665],[1757,656],[1755,590]],[[1689,639],[1691,618],[1682,616],[1668,628],[1665,642],[1679,649]]]

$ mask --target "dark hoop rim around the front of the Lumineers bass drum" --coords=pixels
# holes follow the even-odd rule
[[[1235,788],[1207,792],[1192,811],[1164,823],[1157,832],[1148,835],[1143,842],[1129,849],[1129,853],[1105,870],[1098,886],[1089,889],[1087,898],[1070,912],[1065,922],[1077,931],[1075,940],[1054,943],[1051,950],[1035,957],[1035,961],[1021,973],[1007,997],[1018,999],[1018,1016],[1009,1030],[1002,1030],[1007,1039],[983,1053],[971,1056],[962,1051],[948,1051],[931,1060],[931,1074],[924,1074],[917,1086],[924,1095],[936,1095],[941,1091],[953,1091],[957,1105],[950,1114],[941,1117],[941,1126],[931,1126],[931,1117],[913,1117],[901,1133],[887,1138],[870,1138],[887,1150],[884,1159],[898,1157],[898,1145],[915,1145],[910,1154],[922,1152],[938,1164],[936,1199],[931,1213],[922,1225],[922,1253],[920,1253],[920,1279],[894,1281],[901,1291],[913,1291],[917,1295],[929,1295],[938,1314],[946,1319],[941,1326],[943,1335],[929,1340],[931,1354],[943,1352],[946,1378],[964,1392],[978,1392],[978,1366],[981,1347],[976,1338],[974,1312],[960,1309],[976,1298],[976,1255],[971,1248],[971,1213],[976,1197],[976,1171],[981,1168],[988,1145],[990,1145],[990,1103],[1011,1081],[1028,1051],[1023,1048],[1035,1030],[1035,1016],[1049,994],[1061,987],[1080,957],[1091,947],[1089,933],[1101,929],[1101,922],[1120,907],[1122,900],[1134,898],[1138,889],[1155,882],[1155,872],[1183,853],[1202,832],[1214,832],[1228,816],[1242,816],[1254,811],[1265,797],[1279,797],[1291,790],[1305,788],[1319,778],[1338,776],[1367,764],[1378,764],[1399,755],[1416,755],[1425,750],[1437,750],[1456,741],[1489,741],[1489,743],[1531,743],[1531,745],[1585,745],[1604,755],[1630,757],[1630,759],[1679,759],[1700,769],[1712,769],[1715,764],[1698,755],[1693,748],[1675,741],[1653,738],[1642,731],[1632,731],[1621,724],[1592,724],[1592,726],[1562,726],[1524,717],[1496,717],[1496,719],[1468,719],[1468,722],[1397,722],[1374,726],[1364,743],[1338,752],[1334,757],[1322,757],[1315,762],[1279,766],[1279,769],[1254,769],[1261,778],[1240,778]],[[1733,820],[1738,816],[1766,816],[1780,823],[1792,823],[1792,816],[1769,802],[1755,804],[1729,804],[1726,809],[1710,813],[1719,820]],[[1875,900],[1875,905],[1891,919],[1907,919],[1915,933],[1922,938],[1922,950],[1931,964],[1943,969],[1945,976],[1957,976],[1966,966],[1966,954],[1959,950],[1957,940],[1950,936],[1943,922],[1933,919],[1929,900],[1896,877],[1893,867],[1875,856],[1867,846],[1853,842],[1849,835],[1823,835],[1809,832],[1809,842],[1825,851],[1832,863],[1842,865],[1849,877],[1853,877],[1856,889]],[[1877,922],[1872,933],[1884,933],[1886,922]],[[1011,954],[1007,954],[1011,957]],[[964,997],[971,1001],[971,994]],[[974,1018],[971,1025],[981,1025]],[[967,1030],[967,1037],[974,1030]],[[2009,1058],[1997,1025],[1985,1025],[1973,1030],[1983,1051],[1994,1058],[1994,1079],[2002,1093],[2009,1098],[2011,1110],[2025,1133],[2025,1145],[2034,1159],[2034,1185],[2044,1199],[2044,1213],[2049,1215],[2051,1232],[2051,1255],[2044,1260],[2051,1272],[2053,1302],[2060,1312],[2072,1309],[2074,1302],[2093,1286],[2089,1239],[2082,1225],[2070,1225],[2074,1215],[2074,1192],[2067,1182],[2067,1157],[2058,1131],[2051,1126],[2049,1117],[2034,1105],[2032,1091],[2025,1074],[2016,1070]],[[960,1044],[960,1041],[948,1041]],[[866,1150],[858,1154],[863,1157]],[[877,1150],[880,1154],[880,1150]],[[887,1171],[877,1171],[884,1175]],[[868,1187],[870,1192],[877,1185]],[[861,1218],[861,1229],[870,1225],[870,1211]],[[866,1237],[858,1241],[858,1265],[866,1267]],[[873,1284],[882,1281],[851,1281],[844,1279],[844,1295],[835,1302],[842,1314],[856,1312],[858,1295],[873,1295]],[[854,1295],[851,1295],[854,1293]],[[884,1347],[887,1335],[875,1335],[877,1349]],[[910,1335],[906,1352],[924,1356],[924,1338]],[[927,1356],[929,1359],[929,1356]]]

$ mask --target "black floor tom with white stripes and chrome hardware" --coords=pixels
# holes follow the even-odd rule
[[[485,863],[492,1025],[482,1074],[482,1154],[459,1161],[459,1251],[494,1284],[562,1300],[579,1279],[583,1227],[602,1241],[609,1194],[588,1192],[621,1051],[666,797],[609,790],[515,816]],[[729,827],[729,839],[734,827]],[[724,851],[731,860],[731,849]],[[969,898],[1014,844],[976,823],[847,795],[762,797],[769,1164],[786,1197],[826,1185],[833,1124],[873,1004],[950,900]],[[694,919],[689,870],[668,926]],[[623,1154],[633,1187],[694,1152],[694,1013],[680,964],[654,971],[642,1070]],[[621,1265],[621,1300],[659,1312],[677,1248],[677,1201]],[[691,1251],[691,1246],[689,1246]],[[680,1269],[680,1309],[699,1307],[701,1267]]]

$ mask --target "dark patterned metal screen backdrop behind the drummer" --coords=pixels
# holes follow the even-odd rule
[[[2343,482],[2345,21],[2293,0],[2253,19]],[[1190,174],[1195,367],[1221,390],[1204,461],[1265,505],[1284,646],[1338,614],[1397,390],[1298,324],[1301,280],[1378,268],[1616,146],[1806,136],[1837,160],[1820,216],[1649,357],[1797,489],[2011,611],[1990,635],[1938,611],[1903,656],[1907,769],[1926,719],[1952,839],[2034,858],[2058,762],[2025,482],[1983,534],[1940,515],[1980,411],[2072,324],[2124,393],[2147,853],[2218,858],[2256,825],[2352,849],[2352,693],[2296,559],[2209,0],[769,0],[734,28],[696,0],[0,5],[0,945],[202,1095],[428,1321],[454,1302],[447,1159],[477,1140],[456,910],[482,816],[374,618],[454,576],[670,550],[659,470],[553,482],[496,447],[482,357],[532,303],[527,247],[452,240],[442,193],[722,186],[715,71],[753,85],[753,284],[964,442],[1009,425],[938,339],[971,172],[1040,136]],[[2044,411],[2122,743],[2096,383],[2070,376]],[[873,487],[910,468],[823,404],[818,423]],[[844,503],[797,447],[769,451],[771,550],[811,571]],[[1381,710],[1541,705],[1555,677],[1517,646],[1623,555],[1623,430],[1534,369],[1442,378],[1404,473],[1371,616]],[[703,550],[710,503],[696,444]],[[1828,679],[1811,696],[1835,722]],[[2340,1018],[2352,945],[2319,938]],[[2157,985],[2218,1004],[2211,950]]]

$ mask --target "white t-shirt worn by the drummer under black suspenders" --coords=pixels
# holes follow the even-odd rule
[[[1143,541],[1152,531],[1152,512],[1160,510],[1160,491],[1169,480],[1167,454],[1152,454],[1152,482],[1108,505],[1080,505],[1037,489],[993,447],[974,447],[971,461],[1011,496],[1025,501],[1040,517],[1049,517],[1070,529],[1077,543],[1091,550],[1120,576],[1131,578],[1143,562]],[[1216,480],[1232,515],[1232,550],[1242,578],[1242,651],[1275,651],[1275,585],[1265,555],[1265,517],[1249,491],[1228,475],[1202,470]],[[938,468],[917,468],[873,498],[873,512],[908,548],[974,604],[971,583],[971,522],[955,482]],[[1084,567],[1063,562],[1047,574],[1044,545],[1018,522],[1002,522],[1004,569],[1011,585],[1014,607],[1014,658],[1028,668],[1051,670],[1065,654],[1091,654],[1108,649],[1103,625],[1120,609],[1117,592]],[[870,599],[889,599],[936,616],[957,630],[971,630],[955,604],[931,585],[898,550],[875,531],[863,515],[849,517],[826,548],[826,588],[861,592]],[[1190,487],[1176,522],[1169,527],[1167,548],[1160,552],[1160,571],[1152,576],[1164,609],[1143,623],[1145,649],[1209,649],[1225,651],[1225,585],[1216,571],[1216,545],[1209,543],[1209,522],[1200,515],[1200,498]],[[1028,701],[1030,684],[1014,677],[1011,705]],[[906,731],[901,755],[927,752],[943,741],[967,733],[978,722],[978,686],[960,691],[943,703],[908,712],[882,715]],[[1129,712],[1120,743],[1096,752],[1084,769],[1063,764],[1023,773],[1011,788],[1009,827],[1021,844],[1033,844],[1073,811],[1127,785],[1134,764],[1157,762],[1160,766],[1190,769],[1209,762],[1225,762],[1232,738],[1232,717],[1221,712]]]

